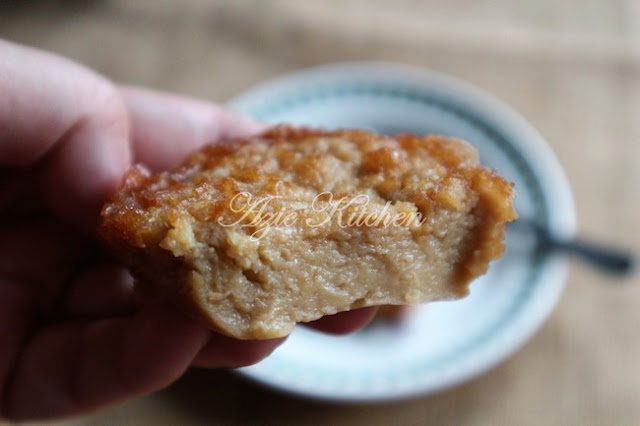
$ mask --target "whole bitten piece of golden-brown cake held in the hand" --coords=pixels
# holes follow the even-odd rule
[[[512,185],[468,144],[275,127],[132,169],[100,233],[138,289],[240,339],[374,305],[460,298],[503,251]]]

